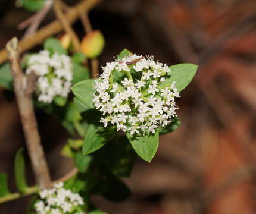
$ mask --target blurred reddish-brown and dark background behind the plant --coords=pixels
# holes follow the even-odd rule
[[[31,15],[0,1],[1,48],[23,36],[17,25]],[[96,204],[111,214],[256,213],[256,1],[105,0],[89,17],[105,36],[101,65],[123,48],[170,65],[199,64],[177,102],[182,125],[161,137],[150,164],[138,159],[126,180],[133,197],[121,204],[93,197]],[[50,12],[43,24],[54,18]],[[83,36],[79,21],[74,29]],[[0,89],[0,103],[0,172],[14,190],[14,155],[24,139],[13,95]],[[37,116],[58,178],[72,165],[59,154],[68,135],[56,119]],[[27,174],[33,184],[30,167]],[[28,201],[0,204],[0,213],[25,213]]]

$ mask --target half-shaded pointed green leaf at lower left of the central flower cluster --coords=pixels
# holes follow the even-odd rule
[[[115,127],[90,124],[83,140],[83,155],[95,152],[105,145],[116,133]]]

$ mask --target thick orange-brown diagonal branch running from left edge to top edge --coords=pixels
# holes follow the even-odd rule
[[[72,7],[70,11],[65,15],[68,23],[73,23],[74,21],[76,21],[82,12],[90,10],[99,2],[101,2],[101,0],[84,0],[79,4],[77,4],[76,6]],[[47,37],[60,32],[62,29],[63,27],[60,21],[58,20],[52,21],[52,23],[49,23],[45,27],[42,27],[41,29],[39,29],[38,32],[35,33],[33,36],[30,35],[24,38],[23,40],[21,40],[20,43],[18,44],[20,48],[20,52],[27,51],[33,46],[39,45]],[[8,59],[7,51],[3,49],[2,51],[0,51],[0,64],[2,64],[2,62],[7,61],[7,59]]]

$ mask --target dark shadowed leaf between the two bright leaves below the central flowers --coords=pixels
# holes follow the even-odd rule
[[[129,177],[136,153],[126,136],[115,136],[105,146],[105,163],[117,177]]]

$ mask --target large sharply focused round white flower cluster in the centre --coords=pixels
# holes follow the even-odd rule
[[[175,82],[161,85],[171,73],[166,64],[155,62],[152,56],[133,54],[107,63],[102,70],[95,81],[93,103],[105,115],[101,118],[105,127],[117,125],[117,130],[132,135],[155,133],[176,116],[175,97],[180,96]],[[125,75],[113,81],[117,72]]]

